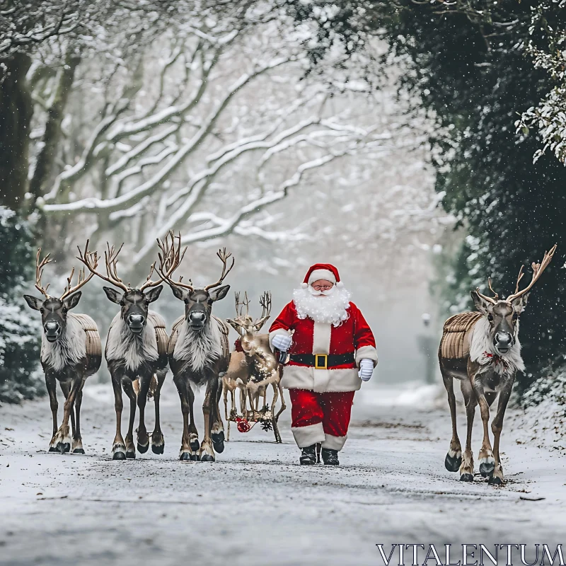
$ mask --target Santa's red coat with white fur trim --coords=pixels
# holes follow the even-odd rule
[[[270,345],[277,334],[291,335],[291,354],[355,354],[355,362],[332,369],[289,362],[283,369],[282,386],[287,389],[325,391],[357,391],[362,386],[358,376],[361,359],[377,364],[376,342],[359,308],[350,303],[350,316],[340,326],[316,323],[312,318],[299,318],[295,304],[287,304],[270,328]]]

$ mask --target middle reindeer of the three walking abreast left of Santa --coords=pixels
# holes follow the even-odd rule
[[[171,244],[169,243],[171,239]],[[104,253],[106,275],[96,271],[96,265],[91,262],[88,254],[88,241],[84,252],[79,249],[79,260],[100,279],[109,282],[123,292],[111,287],[103,287],[104,292],[112,303],[120,305],[120,312],[110,323],[106,340],[105,358],[112,376],[116,411],[116,435],[112,444],[112,459],[125,460],[135,458],[134,419],[136,403],[139,408],[139,427],[137,429],[137,449],[145,454],[149,449],[149,434],[144,422],[146,400],[150,387],[155,401],[155,427],[151,434],[151,450],[154,454],[163,454],[165,441],[159,421],[159,398],[161,386],[167,375],[167,343],[168,335],[165,321],[156,312],[149,310],[149,304],[158,299],[163,289],[160,283],[166,275],[171,275],[180,262],[180,250],[175,250],[175,238],[169,232],[165,242],[158,241],[161,248],[159,258],[161,267],[165,270],[163,277],[157,281],[151,280],[155,263],[151,265],[149,275],[139,288],[131,287],[122,282],[117,274],[117,260],[122,246],[115,250],[107,243]],[[180,248],[180,244],[179,244]],[[136,381],[139,380],[139,383]],[[122,438],[122,388],[129,397],[129,425],[126,440]]]

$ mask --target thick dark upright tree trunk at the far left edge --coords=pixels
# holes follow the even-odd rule
[[[33,114],[23,53],[0,59],[0,204],[18,210],[28,192],[29,139]]]

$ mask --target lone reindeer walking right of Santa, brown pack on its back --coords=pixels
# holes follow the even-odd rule
[[[473,481],[472,427],[475,405],[479,404],[483,421],[483,444],[478,456],[480,473],[484,478],[489,477],[490,484],[504,483],[499,458],[499,437],[515,374],[525,369],[519,343],[519,316],[526,307],[529,291],[552,260],[555,250],[556,246],[545,253],[541,263],[532,264],[533,276],[524,289],[519,290],[519,282],[524,275],[521,265],[514,294],[509,295],[507,299],[499,299],[499,295],[492,289],[491,280],[488,279],[494,296],[481,294],[479,288],[471,291],[478,311],[452,316],[444,323],[439,362],[452,417],[452,439],[444,465],[451,472],[459,471],[461,481]],[[468,417],[466,451],[463,458],[456,431],[453,379],[460,380]],[[497,395],[499,404],[491,425],[494,437],[492,447],[488,424],[490,406]]]

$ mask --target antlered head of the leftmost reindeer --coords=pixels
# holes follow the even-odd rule
[[[41,277],[45,265],[52,260],[50,260],[50,254],[47,254],[45,258],[40,261],[40,254],[41,248],[37,250],[37,256],[35,258],[35,288],[45,296],[45,299],[37,299],[37,297],[33,295],[24,295],[23,298],[30,308],[33,308],[35,311],[40,311],[45,338],[48,342],[55,342],[57,338],[63,335],[67,327],[67,311],[76,307],[81,300],[82,293],[79,289],[93,277],[93,274],[91,273],[88,277],[85,277],[84,269],[80,270],[77,284],[71,287],[75,272],[75,268],[73,267],[71,275],[67,277],[67,287],[65,287],[62,296],[59,298],[50,296],[47,294],[49,284],[47,284],[47,287],[43,287]],[[96,252],[89,253],[89,260],[93,262],[95,267],[98,265]]]

